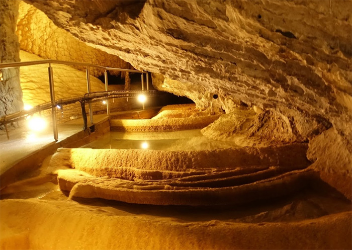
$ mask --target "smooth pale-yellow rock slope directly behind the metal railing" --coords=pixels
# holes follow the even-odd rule
[[[22,61],[41,60],[37,55],[21,50]],[[74,69],[67,65],[52,64],[53,78],[55,86],[55,99],[63,99],[70,97],[84,96],[87,93],[85,71]],[[123,85],[109,86],[109,90],[123,90]],[[48,65],[40,64],[33,66],[21,67],[21,88],[23,91],[23,102],[25,105],[36,106],[46,102],[50,102],[50,89],[48,80]],[[104,83],[98,78],[91,75],[91,91],[105,91]],[[135,99],[109,100],[110,110],[123,111],[130,109],[136,104]],[[102,102],[93,103],[94,112],[106,112],[106,105]],[[86,106],[86,112],[89,109]],[[50,110],[42,112],[42,115],[50,117]],[[63,109],[57,110],[57,118],[59,122],[65,122],[70,119],[81,117],[80,104],[65,105]]]

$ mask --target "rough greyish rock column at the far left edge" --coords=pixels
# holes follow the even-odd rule
[[[20,61],[20,44],[15,33],[19,1],[0,0],[0,62]],[[0,70],[0,117],[22,110],[18,68]]]

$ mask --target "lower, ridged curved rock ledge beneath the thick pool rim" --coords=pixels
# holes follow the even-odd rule
[[[214,188],[211,185],[197,187],[197,184],[202,186],[197,182],[192,182],[192,185],[179,180],[131,182],[96,178],[84,175],[81,171],[59,170],[58,183],[61,190],[70,191],[70,198],[103,198],[134,204],[209,206],[242,204],[289,195],[307,186],[312,175],[312,170],[293,171],[253,183]],[[234,180],[230,183],[227,185],[236,185]]]

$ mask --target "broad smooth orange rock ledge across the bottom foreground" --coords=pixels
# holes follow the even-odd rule
[[[236,223],[161,218],[144,210],[119,213],[110,205],[93,208],[73,201],[9,199],[0,206],[2,249],[351,248],[346,240],[351,212],[288,223]]]

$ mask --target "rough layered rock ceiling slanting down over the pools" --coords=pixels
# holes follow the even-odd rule
[[[254,108],[291,134],[259,135],[262,144],[309,141],[333,127],[351,157],[351,1],[26,2],[86,44],[160,74],[160,90],[201,109]],[[349,185],[333,162],[329,175],[347,174]]]

